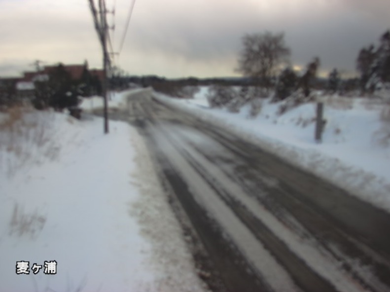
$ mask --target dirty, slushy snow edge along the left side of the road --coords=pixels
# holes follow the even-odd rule
[[[138,153],[135,157],[138,171],[133,176],[141,196],[132,204],[131,213],[139,219],[142,235],[152,243],[151,261],[161,273],[153,291],[205,291],[205,284],[195,276],[193,259],[162,193],[145,142],[138,134],[135,136],[138,138],[132,141]]]

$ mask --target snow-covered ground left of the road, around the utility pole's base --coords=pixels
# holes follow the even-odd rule
[[[204,291],[133,127],[110,122],[104,135],[101,118],[35,110],[0,118],[1,292]]]

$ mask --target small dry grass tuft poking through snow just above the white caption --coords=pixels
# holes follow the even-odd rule
[[[37,211],[26,213],[20,204],[15,203],[9,222],[9,235],[27,235],[33,239],[43,229],[45,223],[46,218],[39,215]]]

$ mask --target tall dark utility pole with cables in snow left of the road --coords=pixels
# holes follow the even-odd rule
[[[88,0],[89,1],[89,7],[92,12],[92,17],[95,24],[95,30],[98,33],[98,37],[100,40],[100,43],[102,45],[103,50],[103,80],[102,80],[102,91],[103,91],[103,98],[104,98],[104,132],[105,134],[108,133],[108,105],[107,105],[107,71],[108,68],[110,68],[110,59],[108,57],[108,50],[107,50],[107,18],[106,18],[106,2],[105,0],[99,0],[99,16],[98,12],[95,7],[94,0]]]

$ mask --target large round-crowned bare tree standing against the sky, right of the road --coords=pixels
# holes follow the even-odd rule
[[[284,33],[246,35],[243,37],[237,71],[245,76],[259,78],[268,89],[282,65],[288,62],[289,56],[290,49],[284,43]]]

